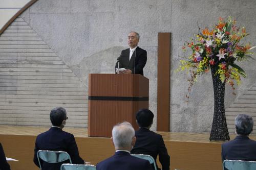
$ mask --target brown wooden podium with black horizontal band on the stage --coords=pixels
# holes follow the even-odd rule
[[[138,129],[135,114],[148,108],[148,88],[142,75],[89,74],[88,135],[111,137],[123,121]]]

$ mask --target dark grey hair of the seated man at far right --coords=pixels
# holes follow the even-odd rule
[[[253,128],[253,119],[247,114],[239,114],[234,120],[238,135],[249,135]]]

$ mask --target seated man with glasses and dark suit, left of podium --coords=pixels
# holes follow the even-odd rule
[[[50,119],[52,127],[48,131],[41,133],[36,137],[34,163],[39,167],[36,156],[38,150],[50,150],[65,151],[70,155],[72,163],[84,164],[84,160],[79,156],[74,135],[62,130],[68,119],[66,110],[62,107],[54,108],[50,112]],[[40,161],[42,170],[60,169],[62,163],[69,163],[69,161],[60,163],[47,163]]]

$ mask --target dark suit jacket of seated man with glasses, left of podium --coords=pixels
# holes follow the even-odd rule
[[[39,134],[35,141],[34,163],[39,167],[36,153],[38,150],[65,151],[69,153],[72,163],[84,164],[84,160],[79,156],[74,135],[62,131],[60,128],[52,127],[48,131]],[[62,163],[47,163],[40,161],[42,170],[60,169]]]

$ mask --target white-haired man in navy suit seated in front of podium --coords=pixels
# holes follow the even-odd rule
[[[112,143],[115,155],[99,162],[97,170],[153,170],[150,162],[134,157],[130,151],[136,141],[135,132],[128,122],[118,124],[112,130]]]

